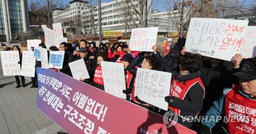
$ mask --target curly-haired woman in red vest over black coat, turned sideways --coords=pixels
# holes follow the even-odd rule
[[[178,72],[170,84],[170,94],[165,97],[170,112],[178,115],[178,123],[190,128],[194,118],[202,110],[205,88],[200,78],[201,55],[190,52],[179,55]],[[175,75],[176,74],[176,75]]]

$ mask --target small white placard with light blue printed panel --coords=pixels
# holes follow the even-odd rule
[[[51,51],[48,68],[62,69],[65,51]]]

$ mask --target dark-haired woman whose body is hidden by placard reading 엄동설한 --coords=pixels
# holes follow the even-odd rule
[[[160,58],[157,55],[157,46],[154,45],[152,47],[154,49],[154,55],[153,56],[145,56],[145,52],[140,52],[138,55],[138,59],[133,60],[128,66],[127,66],[127,70],[134,76],[136,77],[136,73],[137,73],[137,68],[136,66],[142,62],[141,64],[141,68],[145,68],[145,69],[152,69],[152,70],[160,70]],[[133,84],[135,85],[135,84]],[[131,94],[131,102],[140,105],[141,107],[148,109],[148,110],[152,110],[154,111],[154,107],[142,100],[140,100],[137,96],[135,96],[135,86],[133,86],[133,90],[132,90],[132,94]]]

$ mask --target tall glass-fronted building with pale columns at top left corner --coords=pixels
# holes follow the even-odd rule
[[[0,0],[0,42],[10,42],[16,33],[29,30],[27,0]]]

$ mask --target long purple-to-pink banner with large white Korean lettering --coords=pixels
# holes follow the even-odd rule
[[[37,108],[69,133],[196,133],[61,72],[36,72]]]

